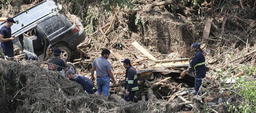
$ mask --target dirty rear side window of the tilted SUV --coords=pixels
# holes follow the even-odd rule
[[[64,27],[64,23],[58,17],[53,16],[39,23],[38,26],[49,36]]]

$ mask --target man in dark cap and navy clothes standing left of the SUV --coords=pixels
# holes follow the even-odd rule
[[[3,53],[5,56],[13,57],[13,43],[12,40],[15,39],[12,36],[11,26],[13,23],[16,23],[13,18],[7,18],[7,22],[5,25],[0,29],[0,42],[1,48],[3,49]]]

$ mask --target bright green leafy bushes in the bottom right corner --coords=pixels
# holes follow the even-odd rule
[[[244,70],[244,75],[251,76],[256,71],[256,66],[245,65],[237,68],[237,70]],[[221,73],[221,71],[219,70]],[[248,79],[246,76],[239,76],[236,79],[236,83],[232,87],[232,91],[228,92],[228,96],[238,94],[242,98],[236,98],[237,103],[225,102],[224,105],[228,112],[241,112],[251,113],[256,112],[256,81],[254,79]]]

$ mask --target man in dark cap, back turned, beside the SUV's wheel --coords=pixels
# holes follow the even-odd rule
[[[59,48],[54,49],[53,56],[48,60],[48,70],[58,70],[62,75],[62,69],[67,69],[67,62],[64,58],[60,59],[61,50]]]

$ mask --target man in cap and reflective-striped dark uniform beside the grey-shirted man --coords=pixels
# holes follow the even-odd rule
[[[136,69],[132,67],[131,61],[129,59],[125,59],[124,61],[121,61],[123,63],[125,71],[125,95],[124,100],[125,101],[132,101],[134,102],[136,100],[135,93],[137,90],[139,90],[138,87],[138,80],[137,80],[137,72]]]

